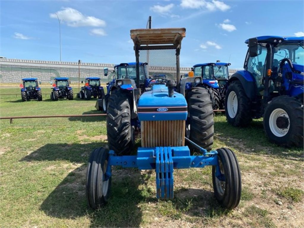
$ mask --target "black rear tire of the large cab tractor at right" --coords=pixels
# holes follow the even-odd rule
[[[233,111],[230,111],[232,110],[232,108],[230,108],[231,105],[229,107],[227,106],[229,95],[231,93],[232,96],[233,92],[235,93],[237,98],[237,111],[235,114],[233,114]],[[250,99],[247,97],[242,83],[238,80],[233,81],[227,89],[225,98],[225,112],[228,123],[236,127],[248,126],[252,121],[250,105]],[[233,110],[235,110],[235,107],[233,108]]]

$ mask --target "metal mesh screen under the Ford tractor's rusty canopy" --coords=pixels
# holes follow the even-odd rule
[[[147,78],[177,81],[176,49],[139,50],[139,61],[148,64]]]

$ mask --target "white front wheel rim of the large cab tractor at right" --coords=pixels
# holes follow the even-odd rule
[[[288,119],[288,126],[286,128],[279,128],[277,126],[278,117],[286,117]],[[290,120],[287,112],[284,109],[275,109],[269,116],[269,128],[271,132],[277,137],[283,137],[288,133]]]

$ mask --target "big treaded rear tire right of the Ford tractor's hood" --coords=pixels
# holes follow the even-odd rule
[[[189,119],[186,128],[186,136],[194,143],[206,150],[211,150],[214,135],[213,110],[208,91],[202,87],[194,87],[186,94]],[[195,149],[189,144],[191,150]]]

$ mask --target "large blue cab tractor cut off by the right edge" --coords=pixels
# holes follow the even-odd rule
[[[269,140],[303,146],[304,37],[259,36],[246,40],[244,70],[234,73],[226,92],[226,117],[248,126],[263,117]]]

